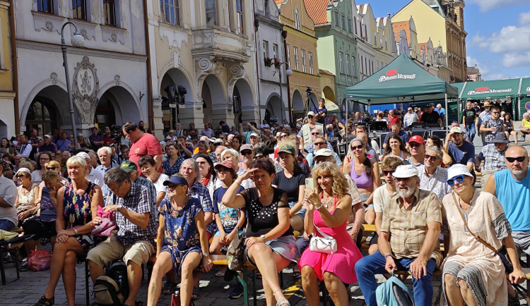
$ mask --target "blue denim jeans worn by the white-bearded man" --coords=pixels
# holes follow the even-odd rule
[[[399,271],[406,271],[411,266],[411,263],[416,258],[401,258],[394,259]],[[375,299],[375,289],[377,288],[377,281],[375,274],[388,273],[384,269],[383,255],[379,251],[372,255],[361,258],[355,264],[355,274],[359,282],[360,290],[363,291],[365,302],[367,306],[377,306]],[[422,275],[421,279],[412,278],[414,305],[416,306],[430,306],[432,305],[432,272],[436,269],[436,260],[429,259],[427,262],[427,276]]]

